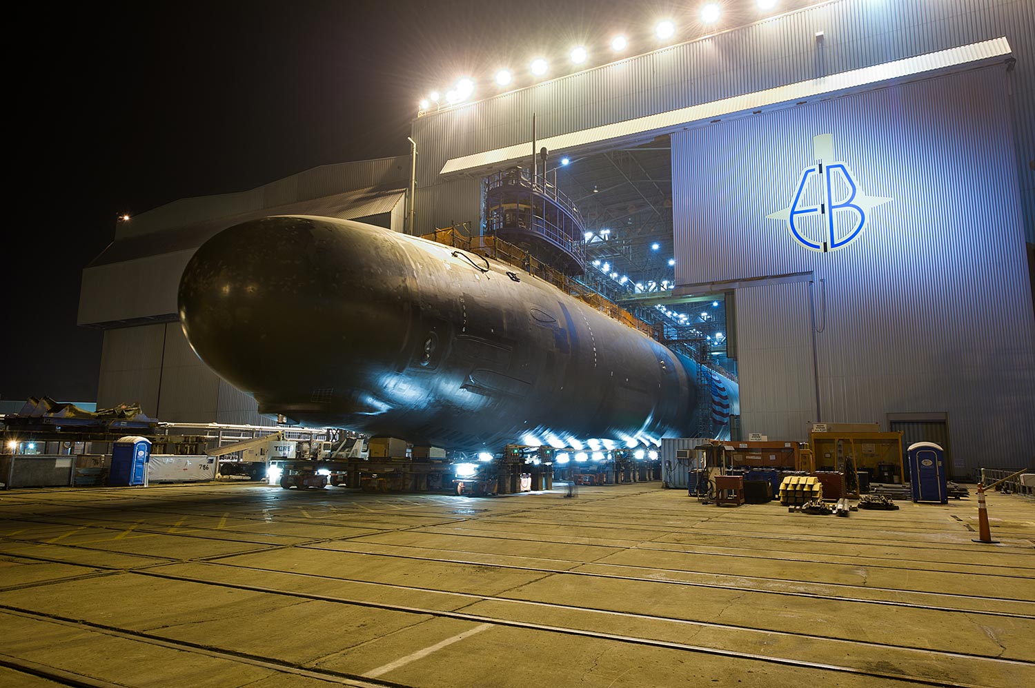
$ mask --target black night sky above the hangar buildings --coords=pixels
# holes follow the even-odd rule
[[[82,269],[113,239],[116,215],[320,164],[405,154],[416,103],[433,88],[470,76],[477,97],[498,65],[520,85],[539,55],[562,73],[579,43],[590,49],[589,64],[608,62],[607,42],[619,32],[641,46],[632,54],[644,52],[666,16],[687,39],[704,30],[696,21],[702,4],[39,6],[36,43],[22,56],[32,68],[16,78],[26,122],[9,131],[31,154],[28,203],[5,228],[0,398],[95,398],[101,333],[77,327],[76,315]],[[744,13],[751,3],[726,4],[726,25],[755,19]],[[783,6],[791,4],[804,3]]]

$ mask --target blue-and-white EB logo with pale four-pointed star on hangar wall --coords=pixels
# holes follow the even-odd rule
[[[809,250],[844,248],[862,234],[869,211],[891,199],[859,189],[848,163],[834,159],[831,134],[815,137],[812,147],[817,163],[802,171],[791,205],[766,216],[787,222],[794,240]]]

